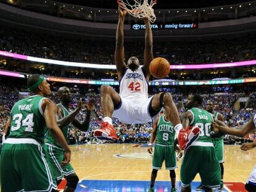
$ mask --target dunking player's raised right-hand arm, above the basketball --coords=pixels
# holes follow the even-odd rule
[[[153,60],[153,35],[152,30],[150,28],[150,21],[146,18],[145,25],[146,25],[146,31],[145,31],[145,49],[144,49],[144,56],[143,56],[143,72],[149,80],[150,78],[150,70],[149,65],[150,62]]]

